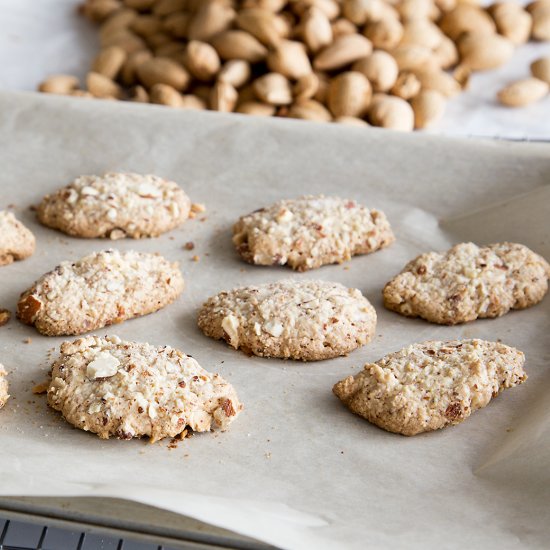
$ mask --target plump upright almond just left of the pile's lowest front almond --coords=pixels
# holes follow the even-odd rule
[[[348,71],[335,77],[328,90],[328,107],[335,117],[362,117],[368,109],[372,88],[367,77]]]

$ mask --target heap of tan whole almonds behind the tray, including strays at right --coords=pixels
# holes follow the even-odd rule
[[[405,131],[439,120],[471,72],[550,40],[550,0],[86,0],[81,11],[101,43],[85,89],[56,75],[42,92]],[[549,61],[536,63],[504,104],[548,94]]]

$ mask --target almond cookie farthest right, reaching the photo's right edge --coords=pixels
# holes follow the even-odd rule
[[[384,288],[384,305],[407,317],[455,325],[499,317],[542,300],[550,265],[526,246],[457,244],[409,262]]]

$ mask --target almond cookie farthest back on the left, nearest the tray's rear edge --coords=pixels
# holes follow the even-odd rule
[[[81,176],[46,195],[38,206],[44,225],[74,237],[156,237],[181,225],[191,201],[173,181],[111,172]]]

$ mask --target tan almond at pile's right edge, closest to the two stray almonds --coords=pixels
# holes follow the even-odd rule
[[[495,69],[514,55],[514,44],[498,34],[467,34],[458,43],[462,66],[472,71]]]

